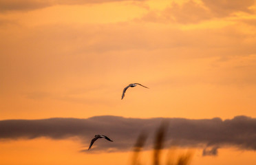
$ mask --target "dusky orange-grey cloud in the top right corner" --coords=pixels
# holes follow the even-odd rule
[[[228,17],[235,12],[253,13],[249,7],[254,4],[255,0],[202,0],[202,3],[191,0],[182,4],[173,2],[162,11],[149,10],[140,20],[158,23],[200,23],[214,18]]]

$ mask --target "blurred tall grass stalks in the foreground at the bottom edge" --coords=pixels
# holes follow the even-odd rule
[[[167,134],[167,128],[167,122],[162,122],[162,124],[160,124],[159,128],[156,130],[155,140],[153,142],[153,165],[160,165],[162,150],[164,148],[164,137]],[[142,152],[142,148],[145,145],[146,140],[147,134],[141,133],[136,141],[136,144],[134,145],[134,152],[131,158],[132,165],[141,165],[140,152]],[[166,165],[189,165],[193,157],[193,152],[187,151],[186,153],[182,153],[181,155],[175,158],[175,147],[171,146],[166,157]]]

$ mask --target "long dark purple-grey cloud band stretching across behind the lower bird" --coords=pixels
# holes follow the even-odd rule
[[[256,118],[237,116],[232,120],[220,118],[189,120],[184,118],[122,118],[105,115],[87,119],[50,118],[44,120],[1,120],[0,139],[17,140],[49,137],[54,140],[79,137],[87,146],[95,134],[107,135],[114,143],[99,140],[98,151],[127,151],[134,146],[138,135],[149,133],[146,144],[151,146],[153,134],[162,120],[169,123],[165,142],[178,140],[182,146],[236,146],[256,150]],[[204,150],[204,155],[217,154],[217,148]]]

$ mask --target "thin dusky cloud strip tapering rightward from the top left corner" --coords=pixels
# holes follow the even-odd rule
[[[52,5],[83,5],[89,3],[107,3],[117,0],[0,0],[0,12],[12,10],[35,10],[39,8],[46,8]],[[122,0],[126,1],[126,0]],[[143,0],[131,0],[143,1]]]

